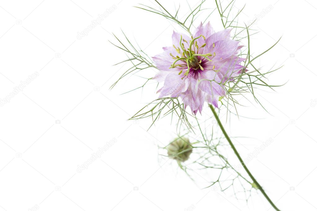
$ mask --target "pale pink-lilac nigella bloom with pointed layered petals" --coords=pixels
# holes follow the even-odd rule
[[[230,39],[230,31],[215,33],[210,23],[201,23],[191,37],[174,31],[173,46],[153,57],[160,70],[153,79],[164,82],[159,97],[181,97],[195,115],[204,102],[218,107],[219,97],[227,95],[224,84],[244,68],[245,59],[237,56],[242,46]]]

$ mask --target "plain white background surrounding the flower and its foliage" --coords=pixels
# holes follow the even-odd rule
[[[152,2],[143,1],[155,7]],[[181,3],[182,13],[189,12],[185,1],[160,2],[171,10],[174,2]],[[0,98],[38,72],[0,107],[0,210],[273,210],[260,193],[253,193],[246,204],[230,191],[202,189],[204,185],[191,181],[174,160],[159,156],[158,145],[176,136],[168,117],[148,132],[150,121],[126,121],[157,97],[155,84],[143,93],[120,95],[140,84],[138,77],[131,77],[109,91],[125,70],[112,66],[125,55],[109,44],[115,41],[110,33],[123,39],[121,28],[154,56],[171,45],[175,27],[163,17],[133,8],[137,3],[142,2],[0,2]],[[282,36],[258,65],[263,70],[284,65],[268,81],[288,83],[276,92],[257,91],[270,114],[248,95],[254,105],[238,107],[239,113],[256,119],[232,117],[227,129],[232,136],[255,138],[235,141],[243,158],[272,138],[273,143],[248,164],[251,172],[281,210],[315,210],[317,3],[239,0],[236,7],[244,3],[239,21],[258,17],[254,28],[259,34],[251,40],[251,53],[261,53]],[[273,9],[261,16],[270,5]],[[111,7],[116,9],[99,26],[77,39],[78,32]],[[207,0],[205,7],[214,8],[214,1]],[[210,22],[218,31],[222,28],[216,17]],[[203,115],[211,115],[206,105]],[[113,139],[117,142],[101,158],[77,171]]]

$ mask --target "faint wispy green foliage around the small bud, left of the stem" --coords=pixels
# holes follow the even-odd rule
[[[196,177],[201,180],[203,178],[206,184],[204,188],[210,188],[219,191],[226,191],[233,193],[236,199],[248,200],[251,196],[251,191],[256,190],[252,180],[248,176],[244,176],[237,166],[231,164],[226,158],[224,152],[227,151],[228,145],[224,142],[223,134],[218,134],[213,129],[210,131],[210,124],[213,118],[208,118],[205,126],[199,123],[198,119],[196,128],[199,128],[199,133],[189,133],[184,130],[178,138],[184,141],[188,137],[191,140],[192,154],[190,159],[185,162],[177,162],[178,166],[193,180]],[[213,128],[213,127],[212,127]],[[245,138],[245,137],[235,137]],[[172,142],[171,142],[172,143]],[[166,149],[169,145],[162,147],[162,156],[173,157],[179,156],[179,153],[186,153],[186,151],[179,152],[171,156],[166,156]]]

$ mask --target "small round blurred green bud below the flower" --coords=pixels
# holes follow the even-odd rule
[[[167,154],[177,161],[184,162],[188,160],[192,147],[188,138],[177,138],[167,147]]]

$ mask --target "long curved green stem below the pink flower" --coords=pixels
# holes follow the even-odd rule
[[[263,190],[263,188],[261,187],[261,185],[256,181],[256,179],[253,177],[253,175],[251,174],[251,172],[249,171],[249,169],[247,168],[247,166],[244,164],[243,159],[241,158],[241,156],[239,155],[238,151],[236,150],[236,147],[233,145],[232,141],[230,140],[229,135],[227,134],[227,132],[225,131],[214,107],[212,105],[209,105],[213,115],[215,116],[217,123],[221,129],[221,131],[223,132],[223,135],[226,137],[227,141],[229,142],[231,148],[233,149],[233,151],[235,152],[237,158],[239,159],[241,165],[243,166],[244,170],[248,173],[249,177],[253,180],[253,182],[256,184],[256,187],[261,191],[261,193],[264,195],[264,197],[268,200],[268,202],[272,205],[272,207],[276,210],[276,211],[280,211],[275,204],[271,201],[271,199],[268,197],[268,195],[265,193],[265,191]]]

